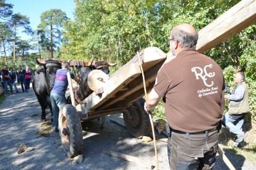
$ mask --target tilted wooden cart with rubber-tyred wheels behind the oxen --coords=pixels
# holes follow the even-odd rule
[[[132,136],[139,137],[148,134],[151,129],[150,119],[143,109],[143,102],[139,101],[145,95],[140,67],[144,71],[147,91],[150,91],[155,84],[158,70],[166,61],[166,56],[157,47],[144,49],[105,81],[102,81],[101,77],[96,77],[101,81],[94,81],[97,89],[93,89],[95,92],[85,100],[76,106],[72,102],[73,105],[65,105],[60,110],[59,133],[62,145],[69,157],[82,153],[83,138],[80,121],[123,113],[124,123]],[[69,86],[69,89],[72,89],[71,81],[69,81]],[[70,94],[71,99],[74,100],[72,92]]]

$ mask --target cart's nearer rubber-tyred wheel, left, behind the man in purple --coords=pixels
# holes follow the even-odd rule
[[[77,110],[72,105],[64,105],[59,111],[59,135],[61,144],[70,158],[83,152],[82,126]]]

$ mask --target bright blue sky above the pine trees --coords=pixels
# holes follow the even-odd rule
[[[40,15],[46,10],[61,9],[66,12],[68,18],[74,19],[74,0],[6,0],[6,3],[14,5],[12,10],[15,14],[27,15],[30,18],[30,26],[33,30],[37,29],[41,22]],[[21,31],[21,29],[18,30],[17,36],[21,36],[24,40],[28,39],[29,37]]]

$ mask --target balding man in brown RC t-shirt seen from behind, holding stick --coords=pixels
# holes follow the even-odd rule
[[[168,157],[171,169],[212,169],[224,109],[224,77],[220,66],[195,50],[198,33],[189,24],[177,25],[169,37],[176,56],[158,71],[145,110],[163,97],[171,128]]]

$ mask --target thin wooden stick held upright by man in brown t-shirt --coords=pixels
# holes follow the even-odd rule
[[[146,89],[146,83],[145,83],[145,76],[142,68],[142,62],[140,61],[140,54],[137,52],[138,55],[138,60],[140,63],[140,70],[142,71],[142,79],[143,79],[143,86],[144,86],[144,91],[145,91],[145,97],[147,98],[147,89]],[[151,116],[151,111],[147,111],[148,116],[150,118],[150,123],[151,123],[151,129],[152,129],[152,134],[153,134],[153,140],[154,140],[154,147],[155,147],[155,156],[156,156],[156,169],[158,170],[158,156],[157,156],[157,148],[156,148],[156,136],[155,136],[155,130],[153,126],[153,120]]]

